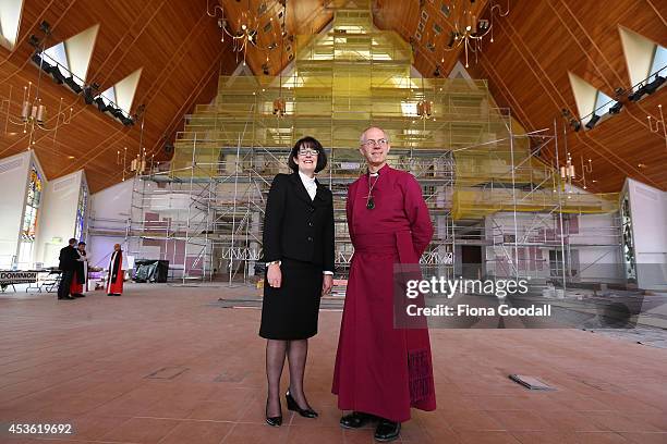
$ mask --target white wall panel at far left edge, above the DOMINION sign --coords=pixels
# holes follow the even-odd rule
[[[29,166],[28,151],[0,160],[0,269],[16,255]]]

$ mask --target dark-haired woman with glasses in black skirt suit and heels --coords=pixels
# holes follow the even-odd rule
[[[278,174],[271,184],[264,218],[264,260],[267,262],[259,336],[266,343],[268,397],[266,422],[282,423],[280,375],[287,355],[290,410],[316,418],[303,393],[307,338],[317,333],[319,298],[333,283],[333,200],[315,178],[327,164],[315,138],[300,139],[288,162],[292,174]]]

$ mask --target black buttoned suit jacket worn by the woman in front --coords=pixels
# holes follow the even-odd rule
[[[294,259],[333,270],[333,198],[317,182],[315,199],[298,173],[278,174],[271,183],[263,236],[264,261]]]

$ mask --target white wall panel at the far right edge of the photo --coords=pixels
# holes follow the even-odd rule
[[[628,178],[638,286],[667,289],[667,193]]]

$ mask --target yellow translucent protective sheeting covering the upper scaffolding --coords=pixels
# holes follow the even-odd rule
[[[336,10],[327,32],[295,37],[294,61],[281,76],[221,76],[215,101],[197,106],[179,133],[171,176],[246,174],[245,163],[228,168],[237,161],[237,148],[262,151],[265,160],[248,163],[263,169],[262,174],[274,173],[284,162],[270,159],[271,150],[284,152],[310,135],[338,161],[322,174],[345,180],[360,172],[344,163],[360,162],[359,135],[373,124],[391,139],[392,164],[426,161],[442,168],[441,175],[420,180],[433,201],[438,193],[451,195],[454,220],[514,209],[616,209],[614,196],[559,199],[554,190],[563,186],[557,172],[532,156],[535,139],[497,108],[485,81],[412,76],[410,45],[396,33],[375,28],[369,1],[350,4]],[[284,102],[283,113],[277,112],[277,100]],[[439,182],[429,185],[427,180]]]

